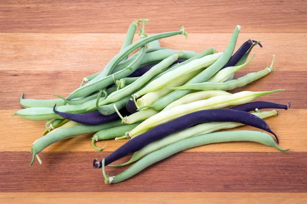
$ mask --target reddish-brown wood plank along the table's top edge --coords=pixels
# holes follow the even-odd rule
[[[171,8],[171,9],[170,9]],[[305,1],[1,1],[0,24],[8,33],[125,33],[131,21],[149,18],[148,32],[178,29],[228,33],[237,23],[244,32],[305,32]],[[157,15],[162,14],[162,15]]]

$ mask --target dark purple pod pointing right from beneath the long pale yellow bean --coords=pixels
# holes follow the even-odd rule
[[[239,106],[234,106],[230,109],[232,110],[237,110],[237,111],[255,111],[256,109],[284,109],[288,110],[290,108],[291,103],[290,101],[287,104],[277,104],[277,103],[272,103],[270,101],[253,101],[247,104],[242,104]]]

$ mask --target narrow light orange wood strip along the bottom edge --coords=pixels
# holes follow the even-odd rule
[[[120,196],[119,196],[120,195]],[[91,193],[0,193],[2,203],[97,203],[97,200],[103,200],[103,203],[229,203],[235,200],[235,203],[306,203],[306,193],[126,193],[121,192],[91,192]]]

